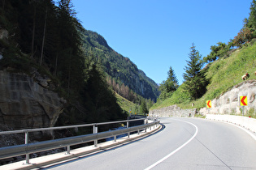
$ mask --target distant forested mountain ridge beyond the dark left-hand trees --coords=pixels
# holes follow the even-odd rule
[[[120,88],[128,87],[137,95],[156,101],[159,94],[158,84],[139,70],[128,57],[111,49],[106,40],[97,32],[85,30],[82,39],[85,55],[96,57],[98,62],[102,63],[103,70],[111,78],[112,86],[118,83]],[[115,91],[119,92],[117,90],[120,89],[119,87],[114,87]]]

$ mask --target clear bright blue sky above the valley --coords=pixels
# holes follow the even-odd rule
[[[252,0],[73,0],[76,16],[117,53],[162,83],[170,66],[183,83],[192,43],[206,57],[249,17]]]

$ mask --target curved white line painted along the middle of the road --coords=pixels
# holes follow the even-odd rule
[[[180,121],[175,119],[176,121]],[[191,142],[193,140],[193,138],[195,138],[197,136],[197,132],[198,132],[198,128],[197,125],[194,125],[193,123],[189,122],[189,121],[184,121],[186,123],[189,123],[190,125],[193,125],[196,128],[196,132],[195,134],[193,134],[192,138],[189,138],[189,140],[187,142],[185,142],[183,145],[181,145],[180,147],[178,147],[175,151],[172,151],[170,154],[164,156],[162,159],[158,160],[156,163],[150,165],[150,167],[145,168],[145,170],[149,170],[151,168],[154,168],[156,165],[162,163],[165,159],[169,158],[171,155],[175,154],[177,151],[180,151],[181,148],[183,148],[184,146],[186,146],[189,142]]]

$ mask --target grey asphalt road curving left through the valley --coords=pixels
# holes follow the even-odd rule
[[[256,169],[256,140],[245,130],[196,118],[160,121],[157,134],[46,169]]]

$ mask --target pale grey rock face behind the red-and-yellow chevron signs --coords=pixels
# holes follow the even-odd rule
[[[211,100],[212,108],[201,108],[199,113],[219,113],[219,114],[241,114],[239,96],[247,96],[248,105],[244,106],[244,113],[249,110],[256,111],[256,80],[249,80],[237,84],[230,91],[225,92],[219,98]]]

